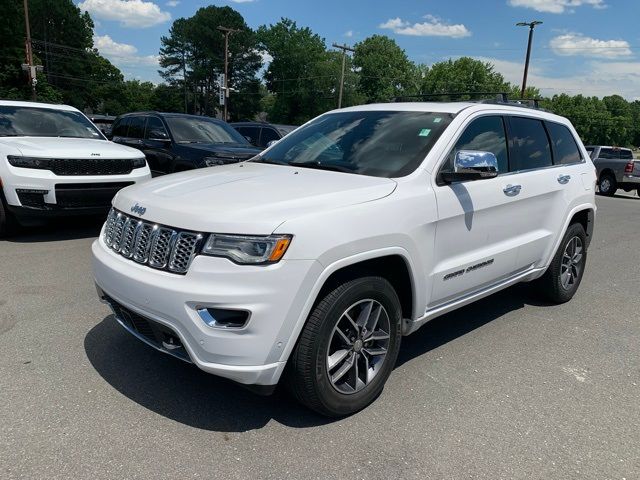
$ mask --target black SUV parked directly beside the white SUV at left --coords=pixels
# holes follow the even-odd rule
[[[260,153],[228,123],[181,113],[127,113],[113,123],[112,136],[142,150],[154,176],[241,162]]]

